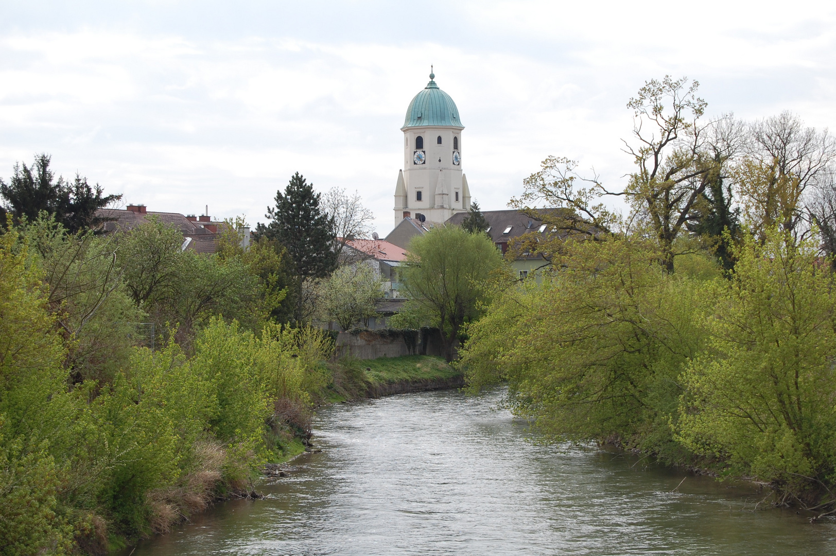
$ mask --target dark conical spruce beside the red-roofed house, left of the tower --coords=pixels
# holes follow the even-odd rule
[[[284,193],[276,191],[276,207],[268,207],[265,216],[271,222],[258,225],[259,235],[287,248],[300,280],[324,278],[334,271],[334,218],[320,208],[314,184],[296,172]]]

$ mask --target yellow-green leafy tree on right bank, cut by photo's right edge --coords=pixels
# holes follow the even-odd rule
[[[833,276],[813,241],[774,228],[711,291],[711,341],[683,377],[679,439],[765,480],[833,482]]]

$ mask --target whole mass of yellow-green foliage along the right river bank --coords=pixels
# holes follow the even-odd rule
[[[670,274],[637,238],[568,242],[550,278],[494,294],[459,365],[472,390],[507,380],[552,438],[701,456],[798,496],[833,485],[831,267],[776,228],[734,254],[727,276],[698,254]]]

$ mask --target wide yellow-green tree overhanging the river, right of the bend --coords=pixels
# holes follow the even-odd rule
[[[642,242],[567,249],[562,270],[497,293],[468,327],[471,388],[507,380],[512,406],[548,436],[675,451],[677,377],[703,343],[700,284],[666,274]]]

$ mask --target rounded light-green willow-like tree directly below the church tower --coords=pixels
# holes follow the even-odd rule
[[[441,329],[452,360],[461,327],[481,314],[488,280],[501,267],[502,254],[484,234],[442,226],[413,237],[400,274],[409,297],[401,319],[412,314]]]

